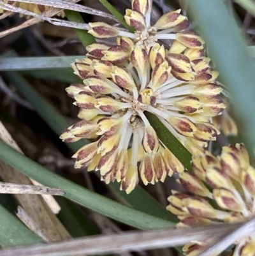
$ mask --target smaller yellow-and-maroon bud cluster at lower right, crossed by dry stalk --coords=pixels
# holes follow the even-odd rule
[[[244,222],[255,213],[255,169],[249,165],[244,144],[222,147],[220,156],[206,152],[193,156],[193,172],[183,172],[180,184],[190,193],[172,191],[168,197],[177,227]],[[214,205],[210,204],[214,200]],[[210,241],[184,246],[186,255],[199,255]],[[254,255],[255,237],[240,237],[233,255]]]

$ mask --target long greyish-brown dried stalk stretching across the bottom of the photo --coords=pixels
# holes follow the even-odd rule
[[[244,227],[242,229],[242,227]],[[151,250],[180,246],[190,241],[217,239],[219,236],[231,237],[252,234],[255,231],[255,220],[246,223],[210,225],[189,229],[167,229],[157,231],[123,232],[106,236],[91,236],[73,239],[48,245],[17,246],[16,248],[0,250],[1,256],[71,256],[75,253],[98,255],[105,253],[120,253],[137,250]],[[233,238],[233,236],[232,236]],[[235,237],[236,238],[236,237]],[[233,240],[233,239],[232,239]],[[226,241],[225,248],[230,246],[231,239]],[[210,252],[210,256],[214,252]],[[205,255],[203,255],[205,256]],[[208,256],[208,255],[206,255]]]

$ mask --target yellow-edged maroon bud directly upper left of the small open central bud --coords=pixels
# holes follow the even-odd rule
[[[125,67],[113,66],[112,79],[119,87],[129,91],[136,87],[131,73]]]

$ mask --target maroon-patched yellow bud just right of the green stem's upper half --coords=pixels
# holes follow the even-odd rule
[[[186,137],[193,137],[194,132],[197,130],[195,124],[186,117],[170,116],[168,117],[168,123],[170,123],[178,133]]]

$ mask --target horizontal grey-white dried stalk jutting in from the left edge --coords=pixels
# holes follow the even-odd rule
[[[0,182],[0,193],[28,195],[64,195],[60,188]]]

